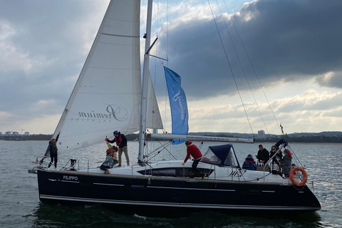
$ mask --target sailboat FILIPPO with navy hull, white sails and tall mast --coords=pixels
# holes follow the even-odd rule
[[[305,179],[275,175],[267,170],[244,170],[231,142],[253,139],[197,135],[152,135],[165,140],[220,141],[209,146],[198,168],[207,177],[190,178],[191,162],[150,162],[145,159],[146,129],[162,128],[148,71],[152,0],[147,5],[147,28],[142,81],[140,77],[140,1],[112,0],[68,100],[54,136],[58,150],[86,150],[104,142],[113,130],[139,132],[138,161],[130,166],[66,170],[37,169],[41,202],[107,204],[167,212],[188,209],[223,211],[310,212],[321,209]],[[168,142],[168,143],[171,143]],[[279,150],[288,146],[280,140]],[[273,157],[269,160],[271,162]]]

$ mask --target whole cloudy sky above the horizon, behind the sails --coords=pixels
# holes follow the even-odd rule
[[[53,133],[108,3],[0,0],[0,132]],[[150,71],[165,130],[162,63],[182,76],[190,132],[342,130],[341,11],[340,0],[156,1],[152,54],[169,61],[151,58]]]

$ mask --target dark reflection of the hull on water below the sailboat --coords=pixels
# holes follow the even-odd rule
[[[118,206],[120,207],[120,206]],[[120,209],[119,209],[120,211]],[[245,213],[244,213],[245,214]],[[326,227],[317,212],[306,214],[227,214],[189,212],[158,217],[145,213],[118,212],[101,205],[93,207],[38,204],[32,213],[32,227]]]

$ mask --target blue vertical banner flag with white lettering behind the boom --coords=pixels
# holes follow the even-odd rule
[[[171,106],[172,134],[187,135],[189,114],[187,112],[187,98],[181,86],[180,76],[165,66],[164,71]],[[182,142],[185,140],[172,140],[172,144]]]

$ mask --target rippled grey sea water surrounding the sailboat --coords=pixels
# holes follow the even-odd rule
[[[43,204],[38,199],[36,175],[29,174],[36,157],[41,159],[48,142],[0,141],[0,227],[342,227],[341,144],[292,144],[299,160],[306,165],[309,187],[321,202],[318,212],[289,217],[229,215],[217,212],[196,212],[177,217],[146,217],[139,212],[121,214],[98,207]],[[198,145],[198,144],[197,144]],[[212,144],[211,144],[212,145]],[[270,143],[264,143],[268,150]],[[60,154],[81,160],[80,167],[98,167],[104,160],[105,144],[80,150],[75,155]],[[138,142],[129,142],[130,160],[138,157]],[[153,147],[150,145],[149,147]],[[206,145],[203,145],[202,152]],[[258,145],[235,144],[239,162],[249,153],[257,154]],[[185,157],[185,146],[172,150],[177,159]],[[124,157],[124,156],[123,156]],[[166,153],[160,159],[171,159]],[[60,166],[61,167],[61,166]],[[314,186],[311,182],[314,181]]]

